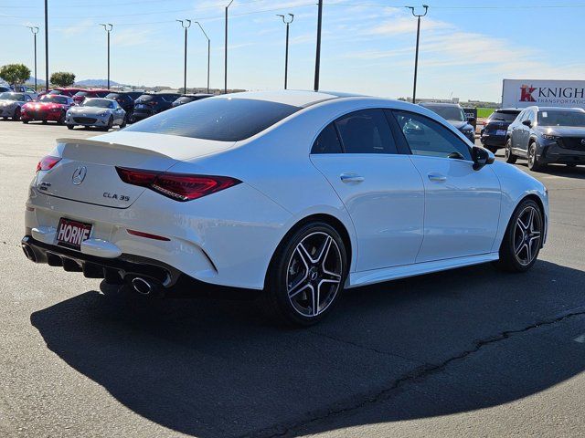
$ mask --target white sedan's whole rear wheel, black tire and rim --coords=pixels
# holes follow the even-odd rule
[[[298,249],[301,246],[309,249],[302,254]],[[317,257],[311,259],[312,255]],[[260,297],[262,310],[287,326],[308,327],[319,322],[338,301],[347,266],[346,246],[333,226],[323,222],[303,224],[284,238],[272,257]],[[289,281],[289,276],[298,279]],[[329,285],[325,293],[322,285]],[[320,293],[311,292],[315,290]]]

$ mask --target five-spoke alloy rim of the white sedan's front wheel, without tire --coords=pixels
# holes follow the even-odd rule
[[[541,234],[540,214],[534,206],[528,205],[518,214],[514,229],[514,254],[520,265],[530,265],[537,257]]]

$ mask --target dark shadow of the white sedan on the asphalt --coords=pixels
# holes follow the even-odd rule
[[[524,275],[474,266],[350,290],[330,318],[297,330],[251,302],[116,304],[95,291],[31,321],[69,366],[152,422],[293,436],[487,408],[579,374],[583,284],[584,272],[543,261]]]

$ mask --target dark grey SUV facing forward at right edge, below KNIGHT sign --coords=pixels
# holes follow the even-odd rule
[[[527,158],[528,169],[542,170],[548,163],[585,164],[585,110],[528,107],[508,127],[505,161]]]

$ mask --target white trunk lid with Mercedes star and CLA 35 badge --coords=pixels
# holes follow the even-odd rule
[[[144,132],[112,132],[92,139],[59,139],[51,155],[61,161],[37,174],[41,193],[112,208],[128,208],[144,187],[123,183],[116,166],[165,172],[176,162],[229,148],[203,141]]]

